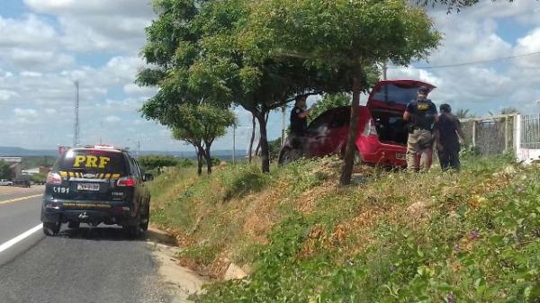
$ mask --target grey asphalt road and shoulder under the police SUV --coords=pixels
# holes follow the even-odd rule
[[[42,188],[27,191],[0,192],[0,247],[40,224],[39,197],[5,202]],[[28,248],[0,263],[0,303],[170,301],[145,241],[126,238],[120,228],[81,227],[63,229],[56,237],[37,230],[25,240]],[[2,254],[9,252],[0,251],[0,260]]]

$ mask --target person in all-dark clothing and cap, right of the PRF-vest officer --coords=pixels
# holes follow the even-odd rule
[[[435,123],[439,162],[443,171],[450,167],[459,170],[459,138],[466,144],[464,130],[461,128],[461,122],[452,114],[450,105],[441,104],[439,110],[441,114]]]

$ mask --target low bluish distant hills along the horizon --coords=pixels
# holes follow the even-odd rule
[[[153,151],[142,150],[141,155],[169,155],[186,158],[195,158],[193,151]],[[0,156],[58,156],[56,149],[25,149],[22,147],[0,147]],[[212,150],[212,156],[220,159],[232,158],[232,150]],[[246,156],[245,150],[237,150],[238,158]]]

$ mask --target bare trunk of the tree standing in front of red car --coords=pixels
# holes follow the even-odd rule
[[[358,108],[360,105],[360,93],[362,91],[362,69],[356,67],[353,78],[353,102],[351,103],[351,122],[347,136],[347,148],[345,150],[345,164],[339,183],[348,185],[351,183],[351,176],[355,165],[356,135],[358,132]]]

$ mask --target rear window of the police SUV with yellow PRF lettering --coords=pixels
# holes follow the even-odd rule
[[[121,153],[95,149],[69,150],[60,157],[55,165],[58,171],[84,174],[126,174],[126,167],[124,156]]]

